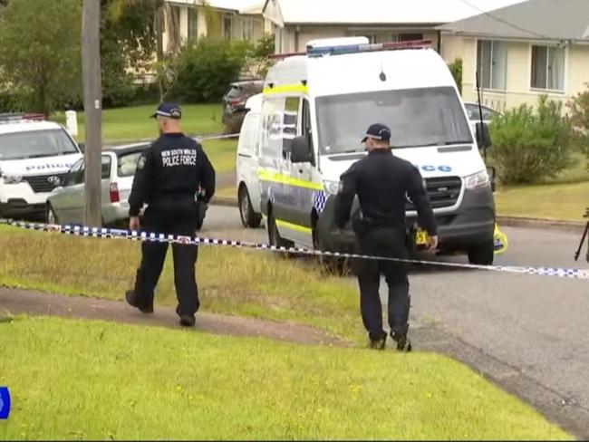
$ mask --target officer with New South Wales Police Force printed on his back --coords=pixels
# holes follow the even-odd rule
[[[147,204],[143,230],[148,233],[194,237],[198,225],[197,195],[204,202],[215,193],[215,169],[204,150],[180,130],[178,104],[162,103],[152,115],[160,137],[140,156],[129,197],[130,230],[140,228],[140,209]],[[198,312],[195,277],[198,247],[173,244],[174,281],[180,324],[193,326]],[[126,293],[127,303],[140,312],[153,312],[154,290],[168,251],[167,243],[143,242],[135,287]]]

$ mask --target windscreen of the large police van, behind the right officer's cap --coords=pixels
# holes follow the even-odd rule
[[[362,92],[319,97],[321,153],[363,150],[361,139],[373,123],[391,128],[393,149],[472,143],[459,97],[450,87]]]

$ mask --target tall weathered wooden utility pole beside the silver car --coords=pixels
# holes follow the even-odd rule
[[[82,12],[82,83],[86,114],[85,226],[101,226],[101,2],[84,0]]]

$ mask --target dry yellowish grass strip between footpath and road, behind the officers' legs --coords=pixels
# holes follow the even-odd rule
[[[343,278],[270,253],[206,246],[198,253],[203,311],[293,321],[365,343],[357,290]],[[170,255],[156,303],[175,306]],[[140,244],[129,240],[0,230],[0,285],[121,300],[139,262]]]

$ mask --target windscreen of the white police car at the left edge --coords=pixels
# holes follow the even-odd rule
[[[77,152],[72,140],[61,129],[0,135],[0,159],[35,159]]]

